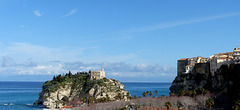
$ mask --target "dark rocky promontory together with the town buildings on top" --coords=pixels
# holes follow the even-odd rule
[[[182,58],[177,65],[177,76],[169,88],[171,94],[210,94],[212,101],[206,102],[210,108],[240,108],[240,48],[209,58]]]

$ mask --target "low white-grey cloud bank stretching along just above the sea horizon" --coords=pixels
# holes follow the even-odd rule
[[[144,78],[161,78],[174,77],[176,69],[168,65],[157,64],[137,64],[132,65],[126,62],[102,62],[102,63],[83,63],[77,62],[45,62],[36,63],[32,61],[25,61],[16,63],[11,57],[5,56],[2,58],[2,65],[0,74],[8,73],[8,75],[58,75],[64,74],[68,71],[76,73],[79,71],[100,70],[104,68],[108,78],[121,79],[123,81],[129,78],[135,79],[139,77]],[[138,81],[137,79],[135,79]],[[151,80],[150,80],[151,81]]]

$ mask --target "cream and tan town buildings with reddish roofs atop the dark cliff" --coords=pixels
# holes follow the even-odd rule
[[[193,57],[179,59],[177,63],[177,74],[191,73],[196,65],[200,65],[203,69],[199,69],[198,71],[205,70],[205,73],[209,71],[209,73],[214,75],[222,65],[230,64],[240,64],[240,47],[234,48],[233,52],[218,53],[209,58]]]

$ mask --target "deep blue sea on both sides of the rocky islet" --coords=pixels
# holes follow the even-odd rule
[[[0,82],[0,110],[44,110],[44,106],[33,105],[38,99],[44,82]],[[142,96],[151,91],[153,96],[169,95],[171,83],[123,82],[131,96]],[[158,93],[155,94],[154,91]]]

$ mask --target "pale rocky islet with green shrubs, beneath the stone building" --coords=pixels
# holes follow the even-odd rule
[[[83,102],[127,100],[129,93],[123,87],[122,83],[114,79],[89,80],[86,73],[69,73],[46,81],[35,104],[53,109]]]

